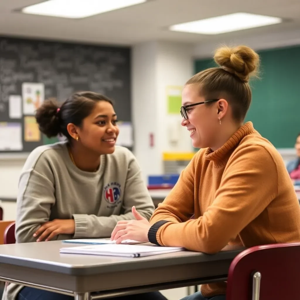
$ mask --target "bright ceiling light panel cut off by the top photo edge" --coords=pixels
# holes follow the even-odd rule
[[[147,0],[48,0],[22,9],[23,13],[79,19],[144,3]]]

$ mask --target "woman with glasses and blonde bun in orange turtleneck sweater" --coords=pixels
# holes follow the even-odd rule
[[[201,148],[150,223],[119,221],[111,238],[217,253],[227,244],[252,247],[299,242],[300,209],[281,155],[244,118],[249,76],[259,56],[246,46],[217,49],[220,67],[190,78],[182,92],[182,125]],[[190,217],[195,214],[194,219]],[[209,283],[184,299],[223,300],[226,283]]]

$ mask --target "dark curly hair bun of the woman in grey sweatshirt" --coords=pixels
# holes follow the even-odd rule
[[[35,119],[37,120],[40,131],[47,137],[56,137],[61,133],[60,112],[58,102],[54,99],[45,100],[36,110]]]

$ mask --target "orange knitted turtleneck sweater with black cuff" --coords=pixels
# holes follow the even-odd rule
[[[150,223],[152,243],[205,253],[300,241],[299,202],[283,159],[251,122],[220,149],[196,153]],[[226,294],[226,283],[201,292]]]

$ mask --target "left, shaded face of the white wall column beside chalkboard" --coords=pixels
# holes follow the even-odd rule
[[[143,174],[159,173],[161,165],[157,151],[158,102],[156,86],[157,43],[143,43],[132,50],[132,121],[134,125],[134,153]],[[150,148],[149,135],[154,134],[155,146]],[[146,180],[146,177],[144,177]]]

